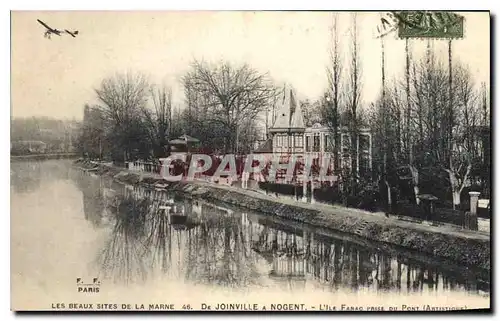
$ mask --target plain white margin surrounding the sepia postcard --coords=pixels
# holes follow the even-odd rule
[[[499,2],[498,1],[485,1],[485,0],[474,0],[474,1],[435,1],[435,0],[419,0],[416,2],[409,1],[370,1],[370,0],[351,0],[351,1],[324,1],[324,0],[307,0],[307,1],[297,1],[297,0],[287,0],[282,2],[272,2],[269,0],[252,0],[247,2],[242,1],[230,1],[230,0],[211,0],[211,1],[203,1],[203,0],[182,0],[178,2],[168,2],[168,4],[162,3],[159,6],[160,1],[150,1],[150,0],[141,0],[141,1],[130,1],[130,0],[122,0],[122,1],[113,1],[109,3],[104,3],[102,0],[87,0],[81,2],[71,2],[71,1],[62,1],[62,0],[45,0],[45,1],[34,1],[34,0],[24,0],[24,1],[3,1],[1,3],[1,17],[2,17],[2,32],[1,43],[4,45],[3,49],[0,50],[2,54],[1,61],[3,65],[6,67],[4,70],[9,70],[9,73],[5,72],[4,76],[1,78],[2,84],[0,86],[2,90],[2,104],[3,106],[3,117],[0,117],[0,121],[2,122],[0,125],[0,147],[1,150],[5,152],[4,155],[10,153],[10,10],[383,10],[383,9],[428,9],[428,10],[491,10],[493,13],[500,12]],[[497,34],[494,34],[494,40],[497,40]],[[8,44],[8,45],[7,45]],[[495,58],[497,57],[497,53],[495,53]],[[492,65],[495,66],[495,65]],[[496,68],[495,68],[496,69]],[[492,75],[495,75],[496,70],[492,70]],[[494,76],[493,76],[494,77]],[[495,84],[493,82],[493,84]],[[494,88],[492,88],[494,89]],[[492,108],[494,108],[492,106]],[[498,117],[496,112],[493,112],[495,120]],[[496,131],[495,131],[496,132]],[[495,140],[493,140],[495,142]],[[494,152],[495,156],[497,154],[497,148],[495,146]],[[498,157],[495,157],[498,158]],[[1,318],[5,319],[13,319],[16,317],[12,312],[10,312],[10,175],[8,174],[10,168],[10,161],[7,160],[7,157],[3,157],[0,159],[0,181],[2,182],[2,193],[0,193],[1,201],[0,204],[2,206],[2,211],[0,214],[2,217],[2,224],[0,224],[2,229],[2,242],[0,244],[2,249],[2,271],[0,273],[0,277],[2,280],[0,291],[1,293]],[[495,172],[495,178],[497,177],[498,172]],[[500,199],[498,197],[498,190],[494,189],[495,197],[494,199]],[[495,207],[496,208],[496,207]],[[496,214],[496,213],[495,213]],[[495,215],[493,214],[493,215]],[[495,224],[497,225],[498,220],[495,219]],[[497,226],[495,226],[497,227]],[[498,231],[498,228],[496,228]],[[9,259],[6,259],[9,258]],[[494,256],[495,267],[498,267],[496,264],[496,256]],[[9,262],[9,264],[6,264]],[[498,274],[497,274],[498,275]],[[494,285],[495,286],[495,285]],[[496,286],[495,286],[496,292]],[[497,293],[495,293],[497,294]],[[497,298],[498,295],[493,295],[492,298]],[[495,304],[492,302],[492,304]],[[108,317],[107,315],[106,317]],[[212,318],[218,316],[210,316],[210,315],[199,315],[203,318]],[[226,317],[238,317],[238,318],[249,318],[250,315],[226,315]],[[288,314],[286,317],[290,317]],[[304,315],[301,315],[304,317]],[[363,315],[368,316],[368,315]],[[423,315],[420,315],[423,316]],[[52,315],[36,315],[35,318],[49,318]],[[146,316],[150,317],[150,316]],[[195,316],[189,315],[176,315],[176,316],[168,316],[170,320],[175,318],[194,318]],[[262,316],[259,316],[262,317]],[[307,317],[317,317],[313,315],[309,315]],[[322,317],[326,318],[358,318],[356,315],[322,315]],[[368,317],[373,318],[377,317],[375,314],[370,314]],[[388,314],[379,315],[378,317],[386,318],[390,317]],[[395,317],[401,317],[401,315],[395,315]],[[423,316],[429,319],[442,319],[445,318],[455,318],[455,315],[425,315]],[[473,316],[468,316],[473,317]],[[62,316],[61,320],[70,319],[71,316]],[[82,320],[91,320],[92,316],[80,316]]]

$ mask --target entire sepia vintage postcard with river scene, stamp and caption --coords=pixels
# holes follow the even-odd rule
[[[11,309],[489,310],[490,19],[12,11]]]

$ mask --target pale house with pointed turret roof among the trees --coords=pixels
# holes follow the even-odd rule
[[[271,137],[254,153],[272,153],[280,155],[313,155],[321,158],[329,155],[333,159],[334,139],[332,130],[319,123],[306,127],[300,104],[296,101],[293,90],[285,91],[276,120],[269,133]],[[351,164],[351,135],[347,127],[338,129],[341,134],[339,154],[342,167]],[[355,142],[359,161],[357,171],[370,171],[372,167],[372,134],[370,129],[361,128]]]

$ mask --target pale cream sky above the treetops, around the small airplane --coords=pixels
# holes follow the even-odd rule
[[[468,65],[476,83],[490,79],[490,20],[487,12],[462,12],[464,38],[453,42],[453,59]],[[229,11],[13,11],[11,13],[11,115],[82,119],[83,106],[97,103],[94,89],[116,72],[141,72],[173,90],[184,101],[180,78],[193,59],[248,63],[287,83],[299,99],[316,100],[326,87],[331,44],[331,12]],[[350,52],[352,14],[338,13],[342,58]],[[380,13],[357,13],[362,99],[373,102],[381,90],[380,40],[374,29]],[[41,19],[52,28],[78,30],[43,37]],[[447,42],[433,50],[448,59]],[[412,55],[427,42],[411,41]],[[386,77],[402,77],[404,41],[385,40]],[[347,61],[344,63],[347,68]]]

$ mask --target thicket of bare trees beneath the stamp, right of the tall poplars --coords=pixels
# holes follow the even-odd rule
[[[387,176],[409,173],[415,194],[451,196],[454,207],[466,185],[489,194],[486,86],[474,84],[468,66],[456,61],[450,72],[430,51],[410,63],[405,77],[393,79],[385,97],[371,105],[374,161],[385,163]],[[376,168],[384,174],[383,167]]]

